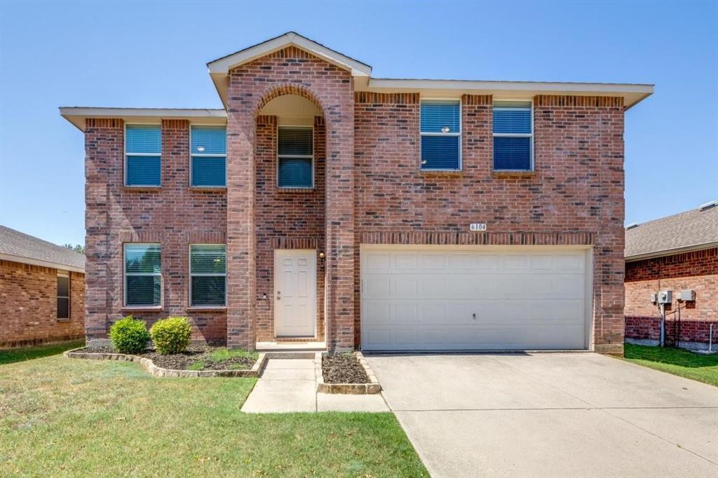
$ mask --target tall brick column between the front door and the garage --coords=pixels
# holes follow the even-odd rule
[[[354,96],[331,92],[327,120],[327,347],[354,349]]]

